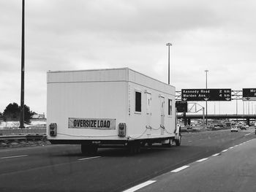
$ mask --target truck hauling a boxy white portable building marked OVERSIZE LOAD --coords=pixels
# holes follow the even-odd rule
[[[132,69],[49,71],[47,137],[52,144],[98,147],[181,145],[175,88]]]

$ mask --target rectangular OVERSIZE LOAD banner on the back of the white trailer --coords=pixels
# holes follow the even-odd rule
[[[116,119],[69,118],[69,128],[116,129]]]

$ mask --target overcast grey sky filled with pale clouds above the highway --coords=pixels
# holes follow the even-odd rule
[[[256,88],[255,9],[255,0],[26,0],[25,104],[46,112],[48,70],[129,67],[167,82],[167,42],[176,91],[205,88],[205,69],[208,88]],[[21,0],[0,0],[0,29],[3,112],[20,104]],[[218,113],[236,112],[236,101],[222,103]]]

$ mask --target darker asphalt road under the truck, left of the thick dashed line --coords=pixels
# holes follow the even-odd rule
[[[123,149],[99,149],[97,156],[85,156],[79,145],[4,149],[0,191],[124,191],[256,138],[249,131],[184,133],[180,147],[155,146],[132,156]]]

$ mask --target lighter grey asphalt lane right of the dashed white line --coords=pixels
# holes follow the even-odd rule
[[[142,191],[256,191],[256,139],[152,178]],[[151,184],[150,184],[151,183]]]

